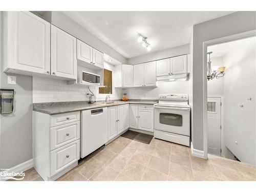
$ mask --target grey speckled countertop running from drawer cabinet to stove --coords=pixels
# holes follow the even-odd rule
[[[104,101],[97,101],[94,104],[89,104],[88,101],[71,101],[71,102],[49,102],[49,103],[33,103],[33,111],[55,115],[60,113],[68,113],[74,111],[90,110],[103,108],[107,106],[115,106],[120,104],[155,104],[158,100],[137,100],[129,101],[115,100],[115,103],[105,104]]]

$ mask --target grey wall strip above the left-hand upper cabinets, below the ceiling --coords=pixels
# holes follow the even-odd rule
[[[126,58],[121,54],[116,52],[113,48],[106,45],[104,42],[99,40],[92,33],[81,27],[79,24],[75,23],[72,19],[70,19],[65,14],[59,11],[52,11],[52,24],[59,27],[60,29],[70,33],[76,38],[86,42],[90,46],[98,49],[99,51],[113,57],[114,59],[126,63]]]

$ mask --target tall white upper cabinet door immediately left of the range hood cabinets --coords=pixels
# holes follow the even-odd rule
[[[156,86],[156,61],[144,64],[144,85]]]

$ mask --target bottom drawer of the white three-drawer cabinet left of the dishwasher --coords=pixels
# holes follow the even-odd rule
[[[57,148],[50,153],[51,159],[51,175],[57,174],[62,169],[75,163],[80,158],[80,140],[76,140],[70,144]]]

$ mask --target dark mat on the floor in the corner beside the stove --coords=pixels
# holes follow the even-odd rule
[[[134,131],[127,131],[121,135],[121,137],[125,137],[127,139],[132,139],[141,143],[150,144],[151,140],[153,139],[153,135],[148,135],[144,133],[138,133]]]

